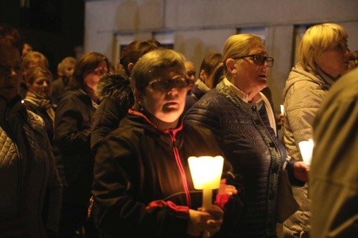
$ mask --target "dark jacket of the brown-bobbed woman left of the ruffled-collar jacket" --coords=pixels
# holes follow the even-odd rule
[[[65,91],[55,116],[55,144],[60,149],[68,186],[76,184],[87,194],[76,197],[87,204],[93,180],[94,155],[89,147],[96,103],[81,89]]]

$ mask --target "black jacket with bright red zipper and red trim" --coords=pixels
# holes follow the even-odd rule
[[[188,237],[189,208],[201,206],[202,193],[193,188],[187,159],[220,154],[207,129],[180,125],[161,131],[142,113],[129,110],[96,153],[92,193],[101,232],[109,237]],[[228,215],[240,209],[233,197]]]

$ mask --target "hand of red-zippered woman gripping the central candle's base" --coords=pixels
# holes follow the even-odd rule
[[[189,224],[187,233],[191,236],[200,236],[204,230],[214,235],[220,230],[224,212],[218,206],[211,205],[210,208],[199,208],[189,210]]]

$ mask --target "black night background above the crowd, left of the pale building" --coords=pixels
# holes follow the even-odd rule
[[[45,54],[57,78],[57,65],[83,46],[84,0],[1,0],[0,23],[18,28],[33,50]]]

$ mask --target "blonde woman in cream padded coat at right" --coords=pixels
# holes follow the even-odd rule
[[[291,69],[283,91],[282,141],[291,158],[302,161],[298,143],[313,138],[312,125],[330,87],[348,69],[352,52],[346,30],[335,23],[313,25],[299,45],[299,63]],[[300,208],[284,222],[284,237],[308,237],[310,199],[308,184],[293,187]]]

